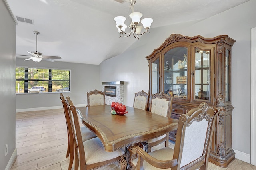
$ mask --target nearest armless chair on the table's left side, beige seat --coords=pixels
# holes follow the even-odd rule
[[[78,122],[76,107],[73,105],[69,97],[66,97],[68,105],[72,134],[70,138],[74,138],[75,148],[75,166],[74,169],[80,170],[98,169],[103,166],[119,162],[120,169],[126,170],[127,162],[124,159],[124,150],[118,149],[114,152],[106,152],[99,138],[82,141],[81,130]]]

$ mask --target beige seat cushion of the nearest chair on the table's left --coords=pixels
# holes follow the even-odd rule
[[[97,162],[103,162],[122,156],[124,150],[118,149],[114,152],[106,152],[104,146],[99,138],[93,138],[83,142],[84,152],[86,157],[86,164],[94,164]]]

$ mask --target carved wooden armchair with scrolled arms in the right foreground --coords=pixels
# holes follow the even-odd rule
[[[214,122],[219,111],[202,102],[180,115],[174,150],[165,147],[146,153],[138,146],[132,148],[134,154],[138,153],[133,161],[136,170],[207,170]]]

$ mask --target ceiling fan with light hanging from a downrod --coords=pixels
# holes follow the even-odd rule
[[[37,35],[39,34],[39,32],[34,31],[34,34],[36,34],[36,51],[32,51],[32,52],[27,51],[29,54],[32,55],[32,57],[30,57],[28,59],[24,59],[24,61],[32,59],[35,62],[40,62],[43,59],[46,61],[54,62],[55,60],[53,60],[53,59],[61,59],[61,57],[59,57],[59,56],[43,56],[43,53],[38,52],[37,51]],[[28,56],[28,55],[20,55],[20,56]]]

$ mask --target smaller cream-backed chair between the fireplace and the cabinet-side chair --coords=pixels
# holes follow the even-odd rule
[[[147,111],[149,96],[150,94],[143,90],[135,93],[133,107]]]

